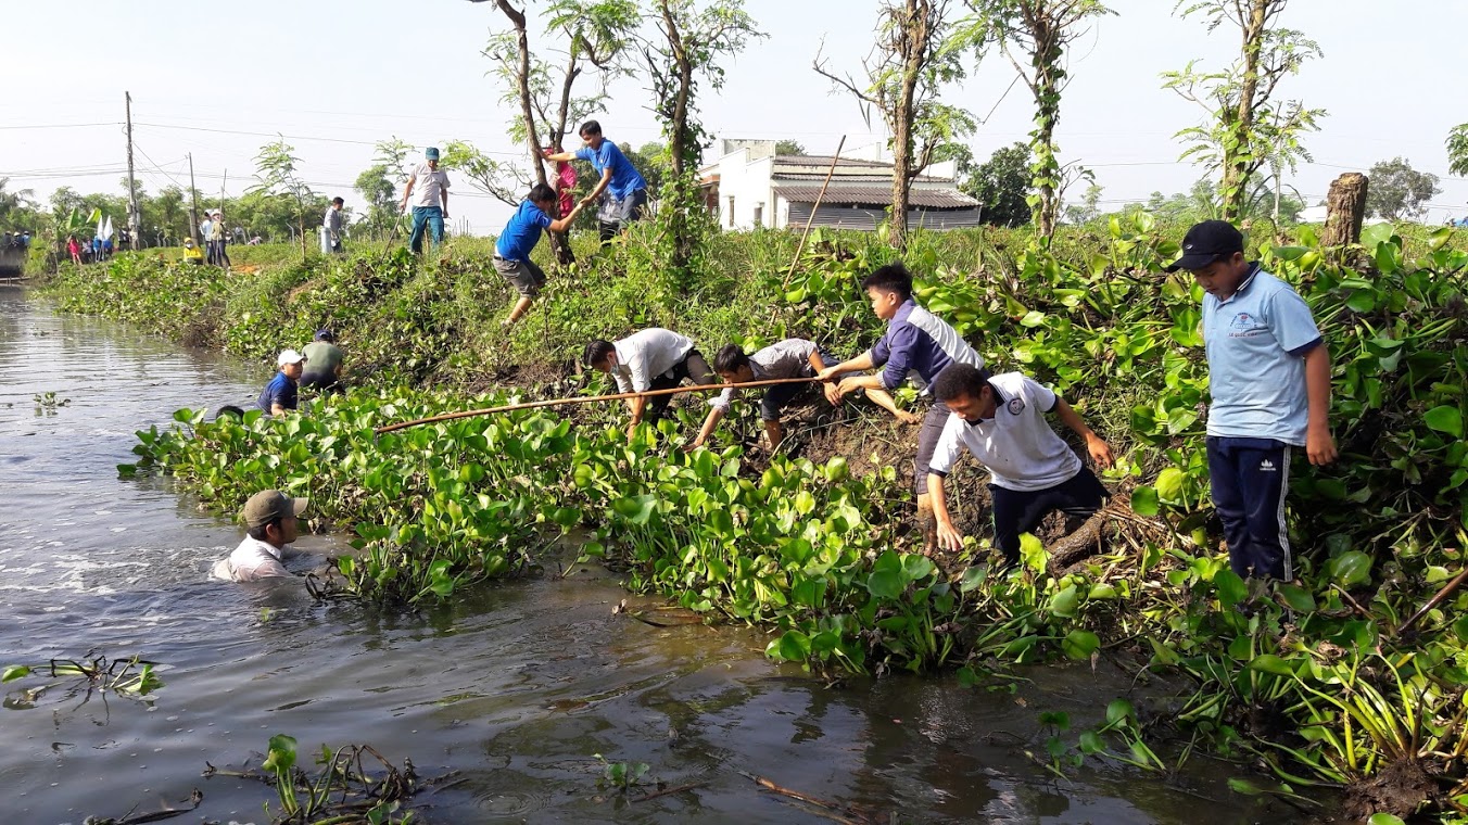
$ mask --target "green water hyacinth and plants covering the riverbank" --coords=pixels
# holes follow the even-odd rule
[[[1135,656],[1198,686],[1155,718],[1117,706],[1105,725],[1060,737],[1057,768],[1110,756],[1166,771],[1142,741],[1177,735],[1243,749],[1286,778],[1276,791],[1348,787],[1352,816],[1461,804],[1452,749],[1468,633],[1452,612],[1464,597],[1398,633],[1456,571],[1462,546],[1468,255],[1450,233],[1414,250],[1374,230],[1364,250],[1373,266],[1359,273],[1330,264],[1308,236],[1264,251],[1327,333],[1345,454],[1329,470],[1296,468],[1302,574],[1267,600],[1248,597],[1210,530],[1198,295],[1160,275],[1174,241],[1145,220],[1113,226],[1089,254],[1076,254],[1085,239],[1051,254],[1019,236],[1001,245],[950,235],[909,251],[922,299],[998,368],[1057,386],[1122,458],[1107,480],[1130,489],[1132,512],[1111,520],[1110,542],[1079,567],[1053,570],[1038,543],[1026,545],[1025,571],[997,578],[969,564],[982,562],[982,543],[947,573],[909,553],[897,528],[907,506],[898,457],[910,455],[901,440],[875,449],[873,473],[857,477],[851,459],[753,462],[731,442],[684,455],[675,446],[688,420],[627,445],[605,427],[615,411],[574,427],[526,414],[367,437],[374,424],[464,404],[473,389],[578,390],[570,361],[580,345],[639,326],[718,342],[709,351],[797,333],[865,348],[878,326],[854,283],[893,254],[866,236],[818,241],[793,277],[782,272],[788,236],[721,236],[743,252],[721,258],[722,275],[693,292],[662,282],[634,239],[562,279],[508,339],[496,329],[508,289],[482,275],[484,260],[454,251],[427,266],[388,252],[244,282],[117,261],[104,277],[63,272],[56,294],[73,310],[132,314],[257,358],[317,326],[346,330],[361,377],[379,389],[285,423],[186,415],[188,429],[142,452],[225,505],[266,483],[345,502],[341,521],[358,524],[368,559],[380,553],[376,570],[342,570],[358,593],[445,597],[534,564],[526,548],[549,526],[589,526],[597,537],[587,555],[624,570],[631,587],[769,627],[775,658],[832,671],[950,665],[972,683],[1014,662]],[[457,389],[382,389],[404,383]],[[270,455],[288,461],[272,465]],[[310,473],[291,477],[302,465]],[[969,506],[973,489],[962,486]],[[1436,784],[1415,782],[1414,769]],[[1384,775],[1412,781],[1396,793]]]

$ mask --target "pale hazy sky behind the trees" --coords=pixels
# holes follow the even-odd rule
[[[1223,68],[1238,35],[1171,16],[1171,0],[1111,6],[1117,15],[1073,46],[1058,135],[1063,160],[1092,167],[1104,203],[1120,206],[1152,191],[1186,191],[1201,176],[1177,163],[1173,134],[1201,122],[1202,110],[1163,90],[1160,73],[1191,59]],[[831,94],[810,69],[822,40],[832,68],[859,69],[876,3],[747,0],[747,9],[768,37],[727,59],[722,92],[700,98],[712,132],[793,138],[818,154],[843,134],[849,147],[881,139],[851,98]],[[1403,156],[1442,178],[1428,222],[1468,214],[1468,181],[1447,176],[1443,150],[1447,131],[1468,120],[1468,3],[1292,0],[1286,15],[1326,53],[1280,87],[1283,97],[1329,112],[1321,132],[1305,139],[1315,163],[1290,181],[1307,201],[1323,198],[1342,172]],[[370,164],[371,144],[392,135],[420,150],[459,138],[501,159],[517,156],[504,134],[514,110],[499,101],[480,54],[490,29],[504,25],[493,3],[467,0],[13,0],[0,50],[0,76],[9,81],[0,178],[43,201],[59,185],[120,192],[119,123],[131,91],[135,164],[148,192],[186,186],[192,153],[201,191],[223,185],[238,195],[252,183],[260,145],[279,132],[295,145],[307,181],[360,207],[351,183]],[[1013,79],[1014,69],[994,53],[945,95],[988,117],[970,139],[979,160],[1031,128],[1032,101]],[[618,142],[659,138],[637,79],[612,87],[600,120]],[[454,195],[455,223],[467,220],[476,233],[495,233],[508,217],[467,182],[457,182]]]

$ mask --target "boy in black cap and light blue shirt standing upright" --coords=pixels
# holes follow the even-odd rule
[[[1208,476],[1213,506],[1240,578],[1295,578],[1284,490],[1293,448],[1336,459],[1330,352],[1293,289],[1243,257],[1243,235],[1205,220],[1183,238],[1185,269],[1202,286],[1208,351]]]

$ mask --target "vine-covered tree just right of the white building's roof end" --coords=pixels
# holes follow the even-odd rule
[[[1035,98],[1035,131],[1031,132],[1029,195],[1035,232],[1050,238],[1060,216],[1066,170],[1055,145],[1060,95],[1066,88],[1066,50],[1086,34],[1091,18],[1111,15],[1100,0],[967,0],[992,29],[1004,56],[1025,79]],[[1019,51],[1029,68],[1014,57]]]

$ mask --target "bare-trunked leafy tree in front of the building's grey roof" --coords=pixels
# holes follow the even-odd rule
[[[972,135],[978,123],[967,110],[942,103],[966,76],[964,56],[978,54],[984,26],[956,25],[951,0],[884,0],[878,6],[876,46],[862,60],[863,79],[826,69],[816,53],[815,70],[834,88],[851,94],[871,123],[881,113],[891,132],[893,213],[888,242],[907,239],[907,204],[913,178],[932,163],[938,147]]]

